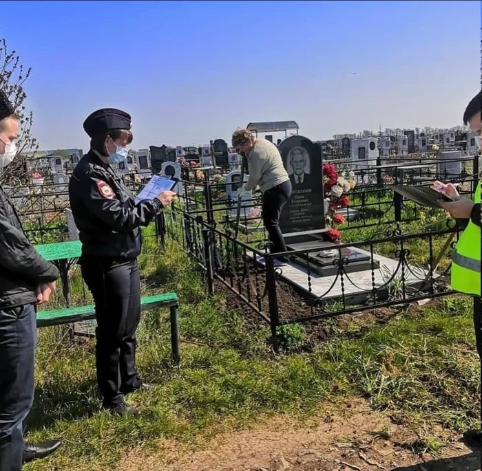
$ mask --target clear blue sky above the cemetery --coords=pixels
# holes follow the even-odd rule
[[[479,89],[479,1],[2,1],[0,37],[32,67],[41,149],[85,117],[132,114],[134,149],[229,140],[294,119],[313,140],[461,124]]]

